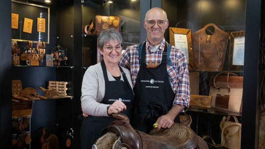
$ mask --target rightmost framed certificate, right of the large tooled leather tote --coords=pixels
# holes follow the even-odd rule
[[[243,70],[245,31],[231,32],[229,46],[229,70]]]

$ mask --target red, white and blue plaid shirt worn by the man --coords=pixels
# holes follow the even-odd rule
[[[157,62],[161,64],[162,52],[164,51],[166,41],[162,40],[161,45],[156,51],[151,52],[151,46],[146,39],[146,55],[145,63],[149,61]],[[138,45],[132,45],[126,49],[122,54],[119,61],[121,67],[131,70],[133,86],[135,85],[137,74],[140,69],[138,60]],[[170,59],[172,61],[172,66],[167,66],[167,73],[169,76],[169,82],[172,87],[173,92],[176,94],[173,101],[174,104],[185,106],[185,110],[189,107],[190,102],[190,90],[189,90],[189,71],[188,64],[185,54],[172,46],[170,51]]]

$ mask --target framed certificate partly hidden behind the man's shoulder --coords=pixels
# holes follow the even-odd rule
[[[189,69],[192,69],[192,39],[191,29],[182,29],[176,27],[169,27],[169,41],[170,44],[182,51],[189,64]]]

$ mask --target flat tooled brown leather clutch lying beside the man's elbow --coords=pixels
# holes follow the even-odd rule
[[[211,96],[191,95],[190,106],[211,108]]]

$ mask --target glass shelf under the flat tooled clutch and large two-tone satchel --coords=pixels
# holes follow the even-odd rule
[[[242,116],[242,113],[235,113],[235,112],[220,110],[220,109],[216,109],[216,108],[205,109],[205,108],[201,108],[201,107],[189,107],[188,111],[212,113],[212,114],[220,114],[220,115]]]

